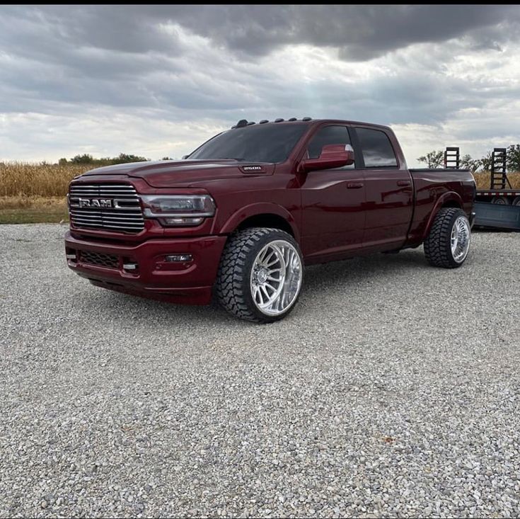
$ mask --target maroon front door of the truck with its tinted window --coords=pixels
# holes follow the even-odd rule
[[[320,127],[311,137],[307,154],[320,156],[325,144],[350,144],[342,125]],[[302,176],[302,252],[308,262],[348,256],[359,249],[364,230],[363,171],[352,166],[310,171]]]

